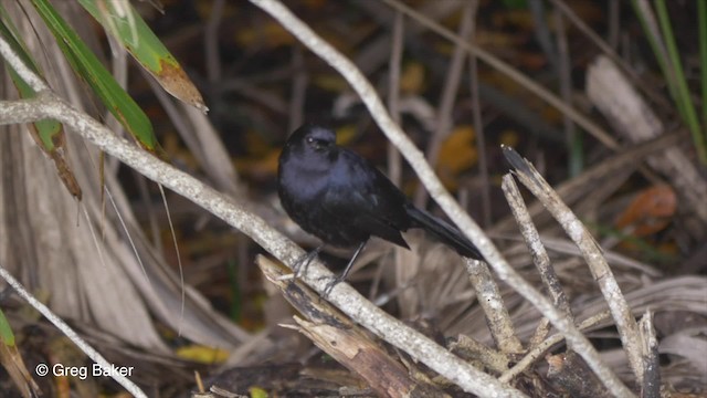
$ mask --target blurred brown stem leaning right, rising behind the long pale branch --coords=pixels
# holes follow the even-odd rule
[[[474,27],[474,12],[472,3],[466,3],[462,11],[462,23],[460,24],[460,38],[466,39],[472,32]],[[400,12],[400,11],[398,11]],[[460,90],[460,82],[462,81],[462,72],[464,71],[464,54],[465,50],[456,43],[454,48],[454,54],[452,54],[452,61],[446,73],[446,82],[442,88],[442,95],[440,97],[440,112],[437,112],[437,123],[432,134],[432,139],[428,144],[428,150],[425,153],[428,161],[431,165],[436,165],[440,157],[440,149],[442,142],[450,135],[452,129],[452,111],[454,109],[454,103],[456,102],[456,94]],[[424,186],[419,186],[413,196],[413,203],[420,208],[424,208],[424,203],[428,199],[428,192],[424,190]]]

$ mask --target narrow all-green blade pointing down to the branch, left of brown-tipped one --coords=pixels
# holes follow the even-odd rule
[[[88,83],[108,111],[144,148],[157,151],[158,143],[152,133],[152,125],[143,109],[48,0],[31,1],[74,71]]]

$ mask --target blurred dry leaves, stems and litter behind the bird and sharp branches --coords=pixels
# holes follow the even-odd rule
[[[445,187],[539,284],[499,189],[508,171],[500,145],[529,159],[591,229],[635,314],[655,312],[665,388],[707,390],[705,1],[285,6],[356,63]],[[336,128],[340,145],[437,211],[347,82],[257,7],[223,0],[131,7],[18,0],[0,4],[0,33],[76,107],[231,195],[306,249],[317,241],[287,219],[275,192],[282,145],[306,121]],[[612,71],[615,81],[605,77]],[[612,88],[623,86],[639,98],[634,107],[616,105],[625,104],[625,92]],[[0,93],[3,101],[35,95],[10,67]],[[336,377],[326,374],[327,358],[278,326],[292,323],[293,310],[262,279],[253,260],[262,249],[246,237],[59,124],[0,127],[0,265],[110,362],[137,366],[134,379],[146,391],[186,394],[196,386],[193,369],[222,373],[214,380],[254,396],[314,394],[313,380],[320,391],[356,385],[342,367]],[[541,209],[534,217],[576,318],[604,310],[577,249]],[[351,283],[431,335],[492,345],[458,258],[409,237],[411,252],[384,243],[367,249]],[[325,260],[336,270],[347,255],[333,251]],[[6,292],[0,307],[17,337],[17,346],[6,339],[14,347],[0,356],[6,368],[17,357],[30,374],[38,363],[86,364]],[[502,293],[518,336],[529,341],[539,313],[509,287]],[[631,383],[611,322],[587,333]],[[538,364],[524,378],[561,394],[539,376],[545,370]],[[22,384],[7,370],[0,376],[8,389]],[[101,378],[31,377],[50,396],[118,390]]]

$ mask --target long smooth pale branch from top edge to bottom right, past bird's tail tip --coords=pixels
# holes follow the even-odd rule
[[[361,97],[361,101],[366,104],[369,112],[371,113],[371,116],[376,119],[378,126],[386,134],[388,139],[390,139],[390,142],[400,149],[401,154],[410,163],[411,167],[415,170],[422,184],[424,184],[424,186],[430,191],[432,198],[434,198],[434,200],[437,202],[437,205],[440,205],[442,210],[444,210],[450,219],[454,220],[454,223],[479,249],[484,258],[488,260],[489,264],[494,266],[495,271],[498,273],[498,276],[503,281],[508,283],[511,287],[514,287],[526,300],[532,303],[542,313],[542,315],[550,320],[552,325],[555,325],[555,327],[557,327],[566,336],[572,348],[584,358],[587,364],[592,368],[592,370],[602,380],[604,386],[606,386],[606,388],[613,395],[619,397],[633,397],[634,395],[631,392],[631,390],[629,390],[626,386],[624,386],[623,383],[616,377],[616,375],[603,364],[599,356],[599,353],[597,353],[587,337],[584,337],[584,335],[582,335],[582,333],[577,329],[577,327],[572,323],[567,322],[566,317],[562,316],[562,314],[552,306],[552,303],[550,303],[545,296],[542,296],[542,294],[535,290],[508,264],[508,262],[500,255],[488,237],[484,234],[478,226],[444,189],[440,179],[436,177],[430,165],[425,161],[423,154],[404,135],[404,133],[400,129],[400,126],[398,126],[390,118],[390,115],[386,111],[386,107],[376,94],[373,86],[370,84],[370,82],[368,82],[368,80],[366,80],[360,71],[348,59],[336,51],[329,43],[321,40],[321,38],[319,38],[314,31],[312,31],[312,29],[309,29],[309,27],[297,19],[292,12],[289,12],[289,10],[286,9],[281,2],[276,2],[273,0],[251,0],[251,2],[265,10],[273,18],[277,19],[285,29],[292,32],[302,43],[307,45],[307,48],[309,48],[312,52],[317,54],[330,66],[336,69],[349,82],[351,87]],[[312,280],[313,279],[308,279],[308,281]],[[323,285],[324,283],[318,283],[317,287],[320,289]],[[347,292],[355,292],[346,284],[339,284],[337,286],[341,286],[341,290],[346,289]],[[345,301],[342,300],[344,295],[334,294],[337,293],[337,287],[335,287],[331,292],[331,300],[336,300],[336,302],[334,303],[340,307],[340,304],[342,304]],[[355,295],[354,297],[356,296],[357,295]],[[361,314],[359,313],[357,315],[360,316]],[[381,334],[382,332],[389,331],[388,328],[386,328],[386,331],[382,331],[380,326],[376,324],[367,324],[367,327],[371,328],[371,331],[373,332]],[[394,333],[394,331],[390,331],[390,333]],[[423,362],[426,360],[425,364],[431,366],[429,364],[431,358],[424,357],[423,359],[419,356],[416,356],[416,358]],[[431,367],[437,373],[443,374],[433,366]],[[454,371],[458,369],[449,370]],[[454,383],[460,383],[456,378],[451,378],[447,375],[444,376],[446,376]],[[455,377],[456,376],[457,374],[455,374]],[[465,388],[461,384],[460,386]]]

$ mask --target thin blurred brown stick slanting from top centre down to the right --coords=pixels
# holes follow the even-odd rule
[[[609,133],[606,133],[603,128],[599,127],[597,124],[594,124],[588,117],[585,117],[584,115],[579,113],[579,111],[574,109],[572,106],[570,106],[570,105],[566,104],[564,102],[562,102],[562,100],[558,98],[555,94],[550,93],[549,91],[547,91],[541,85],[537,84],[536,82],[531,81],[526,75],[524,75],[520,72],[516,71],[513,66],[510,66],[507,63],[500,61],[499,59],[497,59],[496,56],[494,56],[489,52],[484,51],[483,49],[479,49],[477,45],[474,45],[474,44],[471,44],[468,42],[465,42],[464,40],[462,40],[462,38],[458,38],[457,35],[455,35],[453,32],[451,32],[446,28],[442,27],[441,24],[436,23],[435,21],[431,20],[430,18],[423,15],[422,13],[413,10],[412,8],[408,7],[403,2],[397,1],[397,0],[382,0],[382,1],[386,2],[387,4],[389,4],[390,7],[397,9],[397,10],[400,10],[400,11],[409,14],[410,17],[414,18],[415,21],[418,21],[421,24],[428,27],[431,31],[440,34],[441,36],[450,40],[451,42],[453,42],[453,43],[455,43],[457,45],[461,45],[463,49],[468,51],[472,55],[478,57],[479,60],[482,60],[483,62],[485,62],[489,66],[498,70],[498,72],[500,72],[500,73],[505,74],[506,76],[510,77],[516,83],[518,83],[521,86],[526,87],[526,90],[528,90],[529,92],[531,92],[535,95],[537,95],[538,97],[542,98],[548,104],[555,106],[558,111],[562,112],[563,114],[569,115],[572,118],[572,121],[574,121],[574,123],[577,123],[580,127],[582,127],[589,134],[594,136],[594,138],[597,138],[599,142],[604,144],[608,148],[614,149],[614,150],[619,149],[619,143]]]

